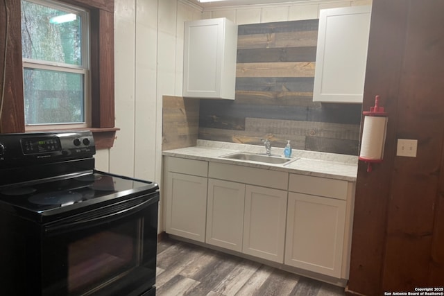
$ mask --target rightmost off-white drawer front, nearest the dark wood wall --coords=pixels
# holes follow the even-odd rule
[[[290,174],[289,191],[347,200],[348,182],[323,177]]]

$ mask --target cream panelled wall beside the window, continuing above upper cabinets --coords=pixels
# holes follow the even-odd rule
[[[322,8],[370,3],[315,0],[203,11],[187,0],[115,0],[115,123],[120,130],[113,148],[97,152],[96,168],[161,182],[162,96],[182,95],[184,21],[227,17],[237,24],[255,24],[315,19]],[[162,213],[162,201],[160,207]]]

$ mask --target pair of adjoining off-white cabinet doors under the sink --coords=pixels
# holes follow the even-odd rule
[[[287,191],[208,180],[206,243],[284,262]]]

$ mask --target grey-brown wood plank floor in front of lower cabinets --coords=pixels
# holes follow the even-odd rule
[[[344,288],[205,247],[162,238],[157,245],[159,296],[343,296]]]

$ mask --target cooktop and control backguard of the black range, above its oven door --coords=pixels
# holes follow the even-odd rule
[[[44,223],[159,190],[96,171],[95,152],[91,132],[0,134],[0,209]]]

